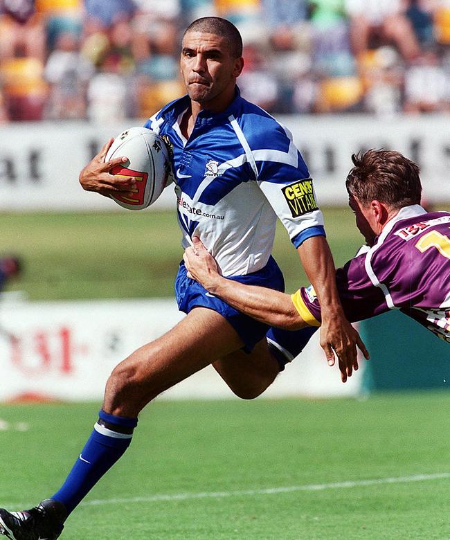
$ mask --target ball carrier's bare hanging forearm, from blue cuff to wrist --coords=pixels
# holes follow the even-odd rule
[[[308,238],[297,251],[309,281],[316,291],[322,319],[343,316],[336,288],[336,269],[325,237]]]

